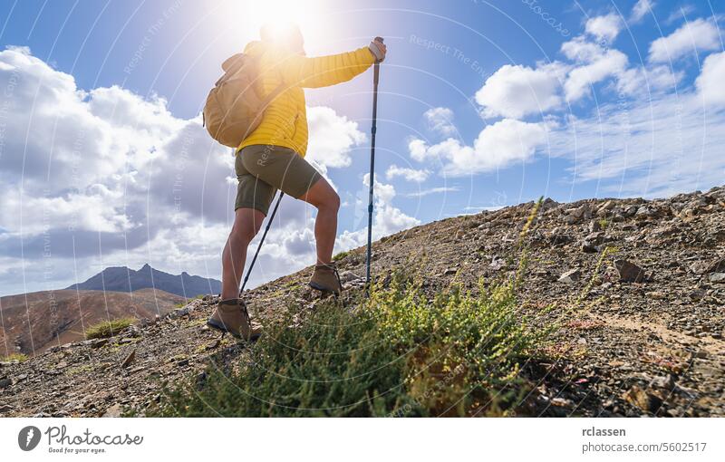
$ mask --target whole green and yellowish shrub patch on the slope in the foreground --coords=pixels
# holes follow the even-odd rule
[[[150,416],[437,416],[515,408],[519,366],[546,338],[514,284],[476,294],[453,284],[428,300],[403,274],[355,309],[329,301],[290,327],[267,322],[238,368],[166,390]],[[519,392],[512,394],[507,388]]]

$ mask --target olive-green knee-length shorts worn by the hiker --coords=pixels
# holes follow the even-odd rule
[[[300,198],[323,178],[294,150],[267,144],[237,152],[234,167],[239,181],[234,209],[254,208],[265,215],[277,189]]]

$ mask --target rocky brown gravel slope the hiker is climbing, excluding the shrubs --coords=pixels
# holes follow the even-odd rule
[[[479,277],[505,278],[515,271],[517,236],[532,207],[450,218],[384,238],[373,246],[373,273],[414,267],[430,293],[454,279],[473,286]],[[725,188],[652,201],[546,200],[527,245],[522,303],[532,310],[554,303],[550,316],[561,325],[550,359],[525,367],[536,380],[526,398],[530,414],[725,416]],[[606,247],[615,252],[603,256]],[[363,251],[339,262],[349,289],[362,283]],[[314,309],[315,294],[304,286],[310,273],[248,291],[252,312],[264,318],[289,303]],[[108,341],[3,363],[0,413],[142,411],[163,382],[240,361],[242,345],[219,342],[204,326],[213,303],[208,296]]]

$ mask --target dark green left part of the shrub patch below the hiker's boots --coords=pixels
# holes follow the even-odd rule
[[[372,312],[334,303],[298,327],[294,315],[266,323],[238,371],[210,367],[198,384],[167,391],[150,416],[370,416],[404,404],[404,361],[376,335]]]

